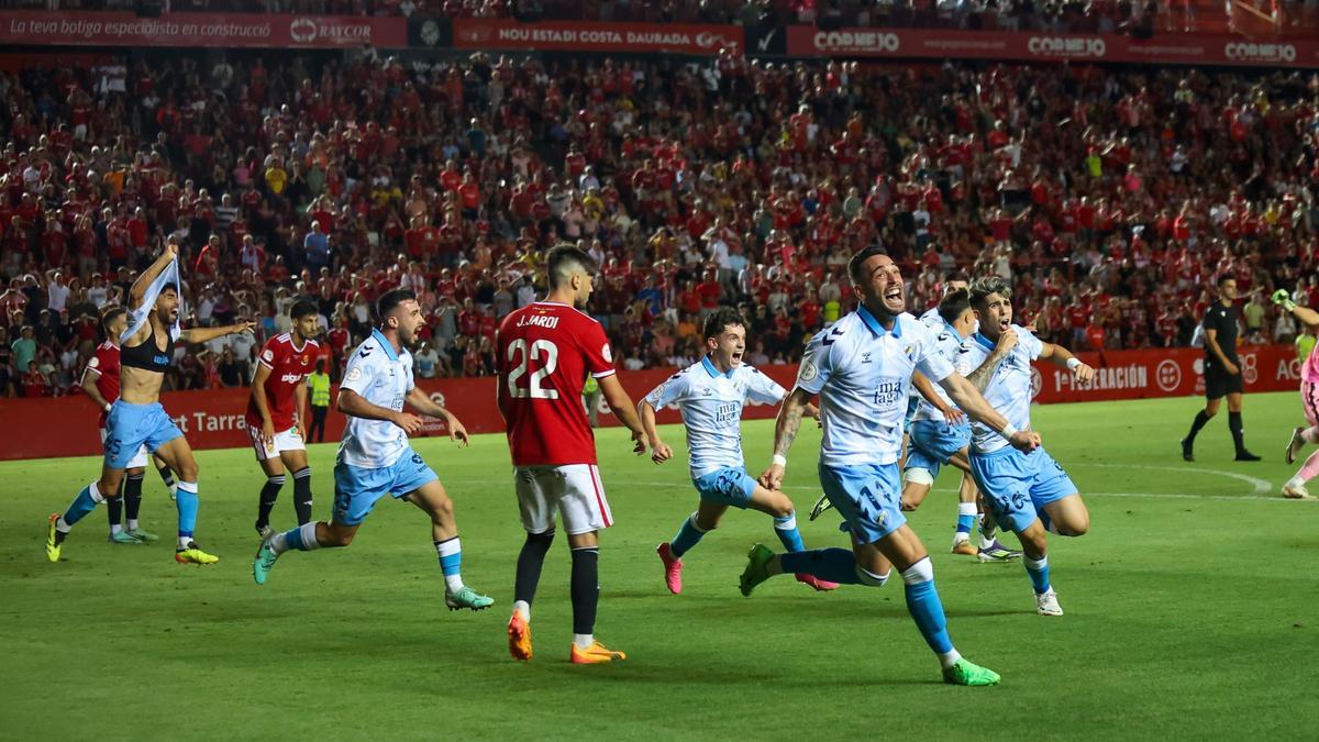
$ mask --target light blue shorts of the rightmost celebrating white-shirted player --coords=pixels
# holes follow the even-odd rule
[[[998,525],[1014,533],[1034,523],[1039,508],[1076,494],[1076,485],[1042,448],[1029,454],[1012,446],[972,454],[971,475]]]

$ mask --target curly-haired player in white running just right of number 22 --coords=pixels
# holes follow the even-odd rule
[[[687,457],[691,483],[700,495],[696,511],[683,520],[673,540],[656,547],[663,562],[669,591],[682,591],[682,556],[702,536],[719,525],[729,507],[758,510],[774,519],[774,535],[789,552],[806,547],[797,529],[793,500],[778,490],[760,486],[747,474],[741,450],[743,405],[778,404],[787,389],[741,362],[747,350],[747,326],[743,316],[723,308],[706,318],[707,355],[700,362],[678,371],[656,387],[637,405],[641,424],[654,445],[650,458],[663,463],[673,458],[673,449],[660,440],[656,412],[675,407],[687,428]],[[816,590],[832,590],[836,584],[799,574],[799,582]]]

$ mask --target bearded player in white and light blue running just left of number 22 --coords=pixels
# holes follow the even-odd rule
[[[406,289],[380,294],[376,320],[371,337],[352,353],[339,387],[339,412],[348,416],[348,422],[334,466],[332,516],[328,523],[309,522],[265,539],[252,562],[252,577],[257,585],[264,585],[276,560],[290,549],[310,552],[322,547],[347,547],[376,503],[392,495],[430,516],[448,610],[489,607],[493,599],[463,584],[454,503],[435,473],[408,442],[408,436],[421,430],[422,419],[404,412],[404,404],[443,420],[450,440],[464,448],[468,445],[467,429],[458,417],[413,383],[408,349],[415,345],[417,329],[426,321],[417,294]]]

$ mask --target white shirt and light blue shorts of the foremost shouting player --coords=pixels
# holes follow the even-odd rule
[[[886,330],[860,306],[811,338],[797,374],[799,388],[820,395],[824,495],[861,543],[906,523],[897,462],[915,370],[935,384],[954,372],[919,320],[904,313]]]

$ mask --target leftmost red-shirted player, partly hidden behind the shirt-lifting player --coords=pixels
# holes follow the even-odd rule
[[[128,329],[128,310],[123,306],[109,305],[100,313],[100,329],[106,339],[96,346],[96,351],[87,360],[83,368],[82,388],[87,399],[100,408],[100,419],[96,425],[100,428],[100,442],[106,442],[106,416],[109,408],[119,399],[119,335]],[[137,450],[124,477],[123,498],[107,498],[106,512],[109,515],[109,543],[112,544],[141,544],[154,541],[156,533],[146,531],[137,523],[137,514],[142,507],[142,478],[146,471],[146,462],[150,454],[146,446]],[[177,483],[174,473],[161,459],[156,459],[156,469],[161,479],[174,496]],[[128,522],[123,523],[124,516]]]

